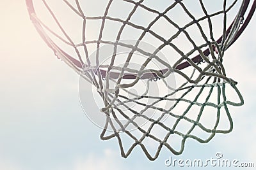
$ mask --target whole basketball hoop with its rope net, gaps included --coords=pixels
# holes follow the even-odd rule
[[[100,138],[117,138],[123,157],[140,146],[150,160],[163,146],[179,155],[188,138],[232,131],[228,106],[243,97],[223,57],[248,3],[27,0],[47,45],[101,97]]]

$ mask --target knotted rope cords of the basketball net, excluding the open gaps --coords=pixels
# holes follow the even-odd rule
[[[236,81],[228,78],[225,73],[223,56],[225,50],[227,50],[228,46],[230,46],[235,38],[240,24],[243,21],[243,18],[240,17],[240,13],[243,9],[244,1],[242,3],[241,1],[232,1],[230,4],[227,4],[226,0],[221,1],[222,9],[209,13],[204,5],[204,1],[199,0],[200,6],[198,6],[198,8],[204,12],[204,15],[200,18],[194,17],[193,13],[186,7],[184,1],[181,0],[170,1],[170,5],[166,6],[163,11],[157,11],[154,8],[148,7],[143,4],[145,1],[147,0],[124,0],[125,3],[132,5],[129,15],[124,19],[111,17],[108,14],[111,9],[111,4],[114,2],[113,0],[108,1],[104,12],[102,12],[103,15],[97,17],[86,16],[86,12],[83,11],[83,6],[81,6],[80,1],[63,0],[63,3],[66,4],[67,8],[76,13],[77,17],[80,17],[83,20],[82,41],[80,43],[75,43],[72,38],[68,36],[65,27],[61,25],[54,10],[52,10],[47,1],[42,0],[42,3],[54,22],[58,25],[61,32],[60,34],[64,35],[64,38],[58,32],[54,32],[47,24],[37,17],[35,13],[31,15],[31,18],[42,38],[44,38],[47,44],[54,50],[56,55],[78,73],[82,73],[81,76],[92,83],[102,97],[104,107],[101,108],[101,111],[102,114],[106,115],[106,124],[102,134],[100,134],[100,138],[103,140],[116,138],[120,146],[122,157],[128,157],[136,146],[140,146],[148,159],[155,160],[163,146],[168,148],[168,150],[175,155],[179,155],[183,152],[185,141],[188,138],[195,139],[200,143],[207,143],[216,133],[228,133],[232,131],[233,123],[228,111],[228,106],[243,105],[243,97],[236,87]],[[228,29],[227,14],[237,4],[239,4],[241,8],[238,9],[236,18],[230,29]],[[186,23],[182,27],[173,22],[167,15],[168,12],[172,11],[177,6],[179,6],[185,15],[191,19],[191,22]],[[131,18],[138,10],[146,10],[149,13],[154,13],[156,17],[149,22],[147,26],[135,24],[134,22],[131,22]],[[221,27],[223,29],[223,34],[222,38],[216,39],[212,29],[212,18],[220,15],[223,19],[221,21],[223,23]],[[161,18],[164,18],[164,20],[168,21],[168,24],[172,25],[172,27],[175,27],[177,30],[175,34],[172,34],[169,38],[162,37],[151,29]],[[86,33],[86,27],[92,20],[100,21],[100,31],[97,39],[88,41],[86,36],[90,33]],[[115,41],[103,39],[103,32],[106,27],[105,24],[108,20],[118,22],[122,25],[118,32],[116,32]],[[200,25],[200,22],[205,20],[209,24],[207,33],[205,32],[204,27]],[[198,31],[200,31],[200,36],[202,36],[204,43],[196,45],[193,37],[187,31],[192,25],[196,26]],[[136,39],[136,43],[134,44],[125,44],[120,41],[122,32],[124,32],[124,29],[127,26],[141,31],[139,38]],[[49,36],[49,34],[51,34],[51,36]],[[161,45],[157,46],[154,52],[147,52],[143,48],[140,48],[140,42],[147,34],[150,34],[161,41]],[[173,43],[180,34],[183,34],[188,43],[193,46],[188,53],[182,52],[182,50],[179,49],[179,46],[176,46],[175,43]],[[65,52],[52,37],[58,39],[58,41],[61,41],[63,44],[72,47],[76,56],[71,56],[68,52]],[[102,55],[100,53],[100,46],[102,44],[113,46],[113,55],[111,56],[109,64],[106,65],[101,65],[99,59],[100,55]],[[88,50],[89,45],[97,46],[95,52],[95,65],[93,65],[90,60],[90,52]],[[125,64],[122,67],[115,66],[116,52],[119,46],[124,46],[125,48],[130,49],[130,52],[127,53],[127,57],[125,58]],[[179,55],[172,65],[162,60],[161,57],[157,55],[162,49],[166,48],[166,46],[172,48]],[[83,53],[81,53],[79,48],[83,48]],[[147,59],[141,63],[139,69],[131,69],[129,68],[129,62],[131,62],[132,57],[136,52],[146,56]],[[195,53],[198,53],[198,56],[200,57],[193,58],[192,55]],[[148,63],[152,62],[152,60],[163,64],[164,69],[157,70],[148,68]],[[185,71],[188,66],[192,68],[192,71],[189,71],[189,73]],[[116,76],[111,74],[113,71],[117,73]],[[177,87],[168,87],[166,78],[168,78],[170,74],[176,74],[176,76],[182,77],[184,82]],[[129,79],[129,83],[124,83],[127,82],[126,79]],[[140,95],[129,92],[128,89],[136,86],[138,81],[141,80],[145,81],[148,87],[150,86],[150,83],[152,83],[152,80],[163,81],[166,87],[172,92],[163,96],[150,96],[148,94],[149,88]],[[111,82],[115,83],[115,86],[112,88],[109,87],[109,83]],[[228,97],[226,96],[225,91],[227,86],[234,90],[239,98],[239,102],[235,103],[227,99]],[[130,93],[132,97],[127,97],[122,92]],[[194,94],[192,95],[192,98],[191,93]],[[189,94],[190,97],[187,97]],[[215,102],[210,101],[211,97],[215,99]],[[147,103],[145,102],[146,99]],[[148,102],[148,100],[152,102]],[[159,103],[162,103],[163,101],[165,102],[165,105],[159,105]],[[168,102],[172,102],[172,104],[167,106],[168,104],[166,103]],[[131,104],[138,106],[138,108],[132,108]],[[178,106],[180,106],[181,109],[175,110]],[[205,113],[207,112],[205,111],[207,110],[206,108],[211,108],[212,113],[214,113],[215,120],[211,127],[200,122],[202,116],[207,114]],[[145,114],[150,110],[154,110],[156,114],[154,116]],[[190,118],[188,116],[188,113],[191,110],[195,110],[196,117]],[[221,117],[227,117],[227,129],[219,129]],[[138,124],[138,118],[146,120],[147,125],[141,126]],[[168,118],[172,118],[174,121],[170,123],[168,122]],[[120,119],[125,121],[120,121]],[[179,131],[178,126],[180,122],[186,122],[189,128],[184,132]],[[129,126],[134,127],[135,130],[128,131],[127,127]],[[153,132],[156,127],[157,132]],[[111,129],[112,131],[108,131],[108,129]],[[195,129],[200,129],[200,131],[207,134],[207,137],[201,138],[200,135],[193,134],[194,131],[197,131]],[[161,135],[157,135],[157,133]],[[173,136],[179,136],[180,138],[180,146],[178,148],[172,146]],[[123,137],[130,138],[132,141],[132,145],[127,150],[124,149],[124,141],[122,141]],[[146,141],[154,141],[157,143],[154,153],[150,153]]]

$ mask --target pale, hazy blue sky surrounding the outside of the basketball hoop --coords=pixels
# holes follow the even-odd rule
[[[179,169],[166,167],[164,160],[206,160],[217,152],[256,166],[255,16],[225,53],[227,73],[244,97],[243,106],[230,108],[234,130],[204,145],[190,139],[179,156],[163,149],[151,162],[140,148],[124,159],[116,139],[100,140],[101,129],[79,101],[79,75],[42,41],[25,1],[2,0],[0,6],[0,169]]]

